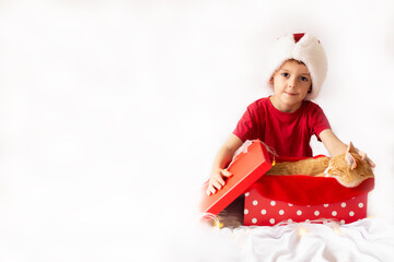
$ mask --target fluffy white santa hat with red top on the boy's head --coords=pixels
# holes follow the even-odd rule
[[[278,38],[267,59],[265,82],[270,87],[274,73],[289,59],[296,59],[306,66],[312,78],[312,92],[308,93],[305,99],[316,98],[327,74],[327,59],[320,40],[308,33]]]

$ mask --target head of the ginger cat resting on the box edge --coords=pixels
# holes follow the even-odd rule
[[[340,184],[347,188],[355,188],[363,180],[373,178],[371,166],[357,154],[351,142],[345,154],[329,160],[324,174],[326,177],[336,178]]]

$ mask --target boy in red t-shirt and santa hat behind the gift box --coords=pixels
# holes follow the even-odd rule
[[[208,195],[224,186],[223,177],[232,176],[225,167],[246,140],[259,139],[281,157],[311,157],[313,134],[332,156],[343,154],[347,148],[331,130],[321,107],[310,102],[317,96],[327,72],[320,41],[310,34],[287,35],[277,40],[270,58],[267,83],[274,95],[251,104],[219,150],[210,174]],[[357,151],[374,167],[366,153]]]

